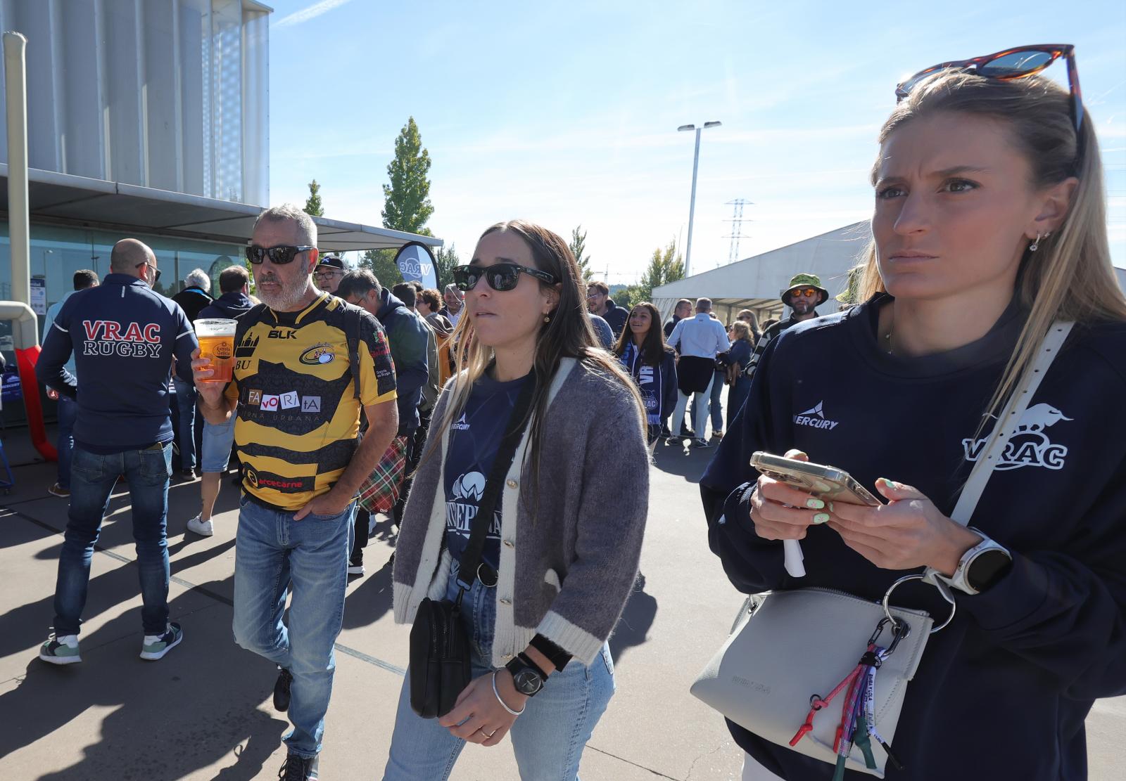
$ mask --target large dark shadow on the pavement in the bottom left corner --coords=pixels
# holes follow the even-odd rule
[[[169,609],[184,641],[159,662],[137,657],[142,632],[133,611],[82,635],[80,664],[33,657],[18,686],[0,694],[0,712],[19,715],[5,719],[0,757],[52,739],[91,707],[111,708],[82,758],[39,781],[182,778],[224,757],[231,764],[216,778],[261,778],[288,726],[259,708],[272,690],[274,666],[254,664],[234,645],[230,621],[213,613],[224,605],[186,592]]]

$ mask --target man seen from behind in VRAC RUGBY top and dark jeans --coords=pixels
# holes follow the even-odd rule
[[[109,263],[100,286],[66,299],[35,367],[41,383],[78,402],[55,631],[39,648],[39,658],[52,664],[81,661],[78,634],[90,558],[119,475],[128,479],[133,506],[144,603],[141,658],[159,659],[184,637],[180,626],[168,621],[168,376],[175,358],[177,376],[191,381],[191,351],[198,342],[179,304],[152,291],[160,277],[152,250],[136,239],[123,239]],[[80,383],[64,368],[72,352]]]

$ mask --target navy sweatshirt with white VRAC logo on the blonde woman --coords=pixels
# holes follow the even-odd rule
[[[701,478],[708,541],[742,592],[826,586],[877,600],[905,574],[877,568],[832,529],[813,527],[802,541],[807,575],[788,576],[781,544],[760,539],[750,521],[754,450],[797,448],[869,490],[887,477],[915,486],[946,515],[954,510],[967,458],[980,456],[992,428],[975,436],[1025,315],[1011,305],[977,342],[900,358],[877,347],[886,300],[877,296],[774,340]],[[888,767],[888,779],[1087,776],[1087,713],[1096,698],[1126,693],[1123,400],[1126,324],[1076,325],[971,520],[1012,553],[1012,569],[982,594],[955,592],[954,621],[930,638],[906,691],[893,745],[906,770]],[[938,621],[948,612],[929,586],[900,589],[893,601]],[[729,727],[788,781],[832,774],[828,764]]]

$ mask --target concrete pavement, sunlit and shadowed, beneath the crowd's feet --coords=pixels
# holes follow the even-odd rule
[[[33,463],[10,432],[17,486],[0,510],[0,779],[243,781],[274,779],[287,721],[272,710],[272,666],[231,638],[235,491],[220,497],[216,533],[185,533],[199,483],[170,492],[169,602],[185,640],[160,662],[137,658],[140,596],[127,495],[115,495],[91,569],[82,663],[36,658],[52,618],[66,502],[47,496],[54,466]],[[618,691],[583,757],[584,781],[738,779],[741,753],[688,686],[723,641],[741,596],[707,549],[695,485],[713,451],[661,446],[652,472],[642,575],[611,640]],[[349,584],[329,710],[324,781],[378,779],[406,665],[408,629],[393,625],[386,523],[368,574]],[[1091,778],[1123,778],[1115,751],[1126,698],[1088,720]],[[510,745],[468,746],[457,780],[517,779]]]

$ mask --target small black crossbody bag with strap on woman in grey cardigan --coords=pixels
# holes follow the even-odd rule
[[[425,719],[438,718],[453,710],[458,694],[470,685],[473,677],[470,637],[461,618],[462,599],[477,578],[485,535],[500,499],[504,475],[512,466],[516,448],[524,436],[535,387],[536,378],[533,372],[525,380],[516,400],[504,436],[497,449],[497,457],[489,470],[477,514],[473,517],[470,540],[462,554],[457,573],[457,599],[440,602],[423,599],[414,617],[414,626],[411,627],[411,709]],[[443,486],[439,485],[438,491],[443,491]]]

